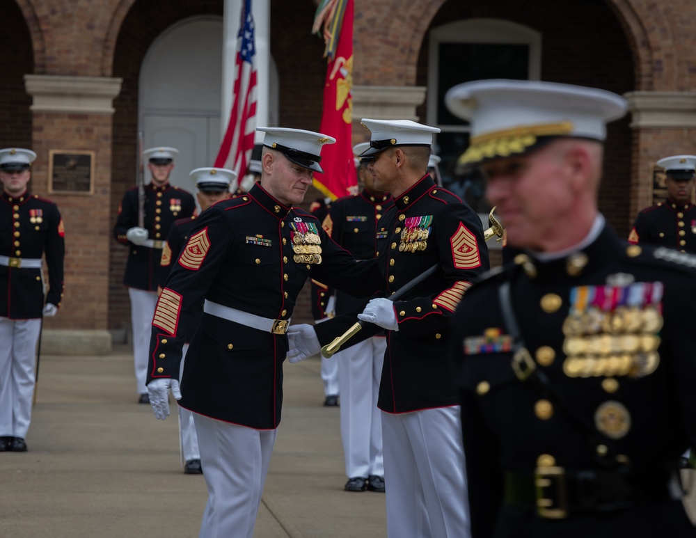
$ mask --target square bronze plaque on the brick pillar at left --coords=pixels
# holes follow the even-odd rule
[[[94,194],[93,151],[50,150],[49,193]]]

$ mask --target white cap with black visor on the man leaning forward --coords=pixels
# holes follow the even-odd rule
[[[319,161],[322,160],[324,144],[333,144],[336,139],[326,134],[287,129],[283,127],[257,127],[263,132],[263,145],[285,155],[288,161],[299,164],[312,171],[324,173]]]

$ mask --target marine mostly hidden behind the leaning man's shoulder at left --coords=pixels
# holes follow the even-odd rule
[[[211,205],[218,203],[220,200],[226,200],[232,196],[231,191],[237,189],[235,180],[237,173],[226,168],[196,168],[189,173],[193,177],[198,192],[196,192],[196,200],[200,211],[203,212]],[[230,185],[231,184],[231,185]],[[187,219],[178,219],[174,221],[169,235],[167,236],[164,248],[162,249],[161,266],[162,271],[159,276],[159,287],[164,288],[166,280],[169,276],[172,264],[175,264],[179,259],[179,254],[182,248],[191,235],[191,228],[196,223],[196,216],[190,216]],[[203,305],[200,308],[200,315],[203,315]],[[193,332],[196,331],[200,322],[200,316],[193,319],[189,325],[189,329],[184,336],[184,347],[182,348],[182,358],[180,375],[184,370],[184,359],[186,352],[189,349],[189,342],[193,337]],[[203,473],[200,466],[200,452],[198,451],[198,437],[196,436],[196,427],[193,425],[193,413],[188,409],[179,407],[179,435],[181,442],[182,456],[184,458],[184,473],[187,475],[196,475]]]

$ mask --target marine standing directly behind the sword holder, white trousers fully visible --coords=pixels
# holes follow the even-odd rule
[[[370,148],[363,142],[353,148],[354,155]],[[374,178],[367,171],[370,159],[357,159],[358,185],[363,190],[354,196],[335,200],[324,220],[324,230],[331,239],[358,260],[377,258],[388,248],[389,230],[382,215],[394,205],[394,198],[374,187]],[[336,292],[336,315],[362,312],[367,299],[356,299]],[[377,407],[379,378],[382,373],[386,335],[379,333],[367,340],[340,351],[332,358],[338,365],[338,385],[341,395],[341,440],[345,458],[346,491],[383,492],[384,458],[382,453],[382,422]]]

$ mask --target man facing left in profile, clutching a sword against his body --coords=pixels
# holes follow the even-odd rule
[[[464,537],[464,453],[446,351],[450,317],[473,280],[489,268],[484,232],[478,215],[427,173],[432,136],[439,129],[409,120],[362,122],[370,129],[370,148],[361,157],[372,156],[367,169],[375,186],[395,198],[380,219],[388,230],[386,252],[361,262],[379,266],[382,298],[358,313],[373,325],[366,324],[351,340],[388,329],[377,402],[383,411],[387,533]],[[406,298],[384,299],[434,265],[436,272]],[[301,334],[298,356],[303,356],[354,322],[355,317],[336,317],[311,332],[297,326],[291,340],[295,331]]]

